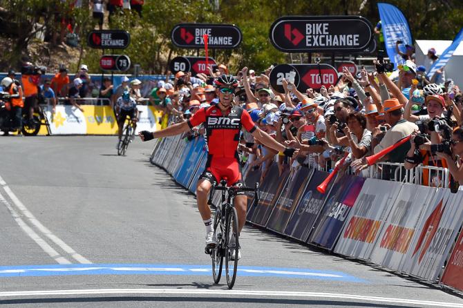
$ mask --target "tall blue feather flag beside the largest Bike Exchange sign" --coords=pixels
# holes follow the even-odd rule
[[[401,10],[388,3],[378,3],[378,8],[386,52],[388,52],[390,61],[397,68],[399,64],[404,64],[405,60],[395,51],[395,43],[403,41],[404,44],[400,44],[399,48],[401,48],[401,52],[405,52],[406,44],[413,45],[412,33]]]

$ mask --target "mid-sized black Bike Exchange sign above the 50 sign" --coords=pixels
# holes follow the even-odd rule
[[[173,45],[180,48],[204,48],[203,35],[209,36],[207,44],[211,49],[236,48],[243,40],[241,30],[235,25],[180,23],[171,31]]]

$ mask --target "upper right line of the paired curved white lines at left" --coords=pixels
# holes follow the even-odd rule
[[[64,251],[66,251],[66,253],[70,254],[71,257],[74,258],[74,260],[76,260],[77,262],[79,263],[82,263],[82,264],[91,264],[92,262],[86,258],[84,258],[83,256],[81,256],[79,253],[75,252],[74,249],[72,249],[71,247],[68,246],[68,244],[66,244],[63,240],[61,240],[60,238],[58,238],[56,235],[54,235],[50,230],[48,230],[48,228],[46,228],[43,224],[41,224],[41,222],[39,222],[39,220],[37,220],[37,218],[35,218],[34,215],[32,215],[32,213],[30,213],[30,211],[26,208],[26,206],[21,202],[21,200],[19,200],[19,198],[17,198],[17,196],[15,195],[15,193],[12,192],[12,190],[10,189],[10,187],[6,184],[6,182],[3,180],[3,178],[1,178],[0,176],[0,184],[1,186],[3,186],[3,189],[5,190],[5,192],[8,194],[8,196],[10,197],[10,199],[12,200],[12,202],[17,206],[17,209],[19,209],[19,211],[21,211],[21,213],[26,217],[28,218],[28,220],[35,226],[37,227],[37,229],[39,229],[39,231],[41,233],[43,233],[47,238],[49,238],[52,242],[54,242],[55,244],[57,244],[59,247],[61,247],[61,249],[63,249]]]

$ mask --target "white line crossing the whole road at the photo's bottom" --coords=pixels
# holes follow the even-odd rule
[[[434,300],[410,300],[407,298],[388,298],[381,296],[362,296],[345,293],[299,292],[299,291],[244,291],[244,290],[207,290],[207,289],[70,289],[41,291],[7,291],[0,292],[0,298],[19,296],[79,296],[103,294],[183,294],[183,295],[225,295],[225,296],[264,296],[285,298],[340,298],[343,300],[359,300],[363,302],[392,302],[396,305],[420,305],[434,307],[463,307],[458,302],[437,302]]]

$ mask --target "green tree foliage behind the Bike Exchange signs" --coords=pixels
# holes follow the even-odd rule
[[[59,31],[57,16],[73,17],[82,38],[82,61],[93,72],[99,70],[101,50],[86,46],[86,35],[95,27],[88,1],[83,8],[70,10],[73,0],[0,0],[1,20],[17,25],[10,53],[3,59],[13,61],[24,54],[40,23],[49,35]],[[112,29],[131,33],[131,45],[124,50],[133,64],[146,73],[165,73],[176,55],[196,55],[198,50],[176,48],[171,44],[171,29],[177,23],[233,23],[243,32],[243,43],[236,50],[215,50],[216,61],[227,64],[232,72],[243,66],[263,70],[273,63],[289,61],[288,55],[276,50],[268,38],[272,22],[285,15],[362,15],[373,25],[379,21],[377,1],[365,0],[214,0],[145,1],[143,16],[125,12],[113,18]],[[388,0],[408,19],[414,39],[453,39],[463,26],[461,0]],[[15,27],[12,27],[15,28]],[[199,50],[204,55],[203,50]],[[212,55],[211,52],[209,55]],[[77,66],[77,64],[73,64]]]

